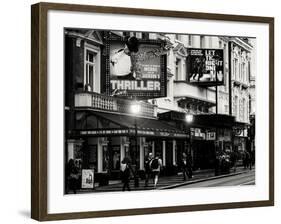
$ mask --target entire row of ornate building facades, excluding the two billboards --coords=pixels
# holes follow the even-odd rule
[[[124,97],[126,89],[107,88],[107,73],[115,61],[106,58],[106,34],[66,30],[66,162],[74,159],[81,168],[94,169],[97,179],[105,174],[118,178],[120,162],[125,157],[130,157],[141,173],[145,156],[152,152],[161,156],[164,173],[169,175],[178,171],[182,152],[192,155],[194,169],[204,169],[214,167],[217,151],[246,150],[254,108],[253,43],[248,39],[200,35],[110,35],[114,40],[136,37],[144,43],[161,45],[159,52],[165,60],[160,67],[165,67],[166,94],[137,100],[141,109],[133,114],[130,108],[136,98]],[[222,84],[190,83],[190,49],[223,50]],[[149,69],[151,75],[159,66]],[[194,116],[191,123],[186,122],[187,114]]]

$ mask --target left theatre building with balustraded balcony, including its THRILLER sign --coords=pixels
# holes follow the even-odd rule
[[[129,49],[137,63],[126,68],[128,56],[118,55],[132,48],[126,33],[65,30],[65,162],[94,170],[96,181],[119,178],[125,157],[142,176],[149,152],[161,156],[164,173],[175,172],[187,147],[188,132],[159,119],[149,100],[166,96],[169,43],[138,39],[138,55]]]

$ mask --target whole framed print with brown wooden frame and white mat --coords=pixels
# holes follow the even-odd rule
[[[32,5],[32,218],[272,206],[274,18]]]

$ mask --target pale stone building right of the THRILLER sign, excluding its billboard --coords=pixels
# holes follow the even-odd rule
[[[220,115],[234,117],[234,123],[225,121],[225,125],[219,126],[216,125],[216,120],[211,127],[207,124],[202,127],[202,125],[196,125],[196,122],[191,124],[194,157],[207,155],[208,158],[212,158],[214,140],[218,141],[221,150],[246,150],[249,118],[255,107],[253,94],[255,91],[253,86],[255,65],[252,61],[252,58],[255,57],[254,41],[252,40],[251,43],[249,39],[199,35],[169,34],[166,36],[171,40],[174,48],[170,50],[168,56],[168,70],[171,74],[168,77],[167,97],[154,100],[159,113],[172,110],[194,115],[211,115],[217,112],[219,117],[216,119],[219,120],[231,118]],[[224,50],[224,85],[217,87],[217,96],[216,87],[194,85],[187,81],[186,58],[189,48]],[[230,54],[229,49],[231,49]],[[229,67],[229,55],[231,56],[231,67]],[[229,71],[231,71],[231,77],[229,77]],[[231,78],[230,82],[229,78]],[[229,86],[230,84],[231,86]],[[230,90],[231,99],[229,99]],[[211,116],[210,119],[212,119]],[[208,141],[207,136],[214,136],[214,132],[217,137],[212,139],[213,141]],[[206,166],[206,162],[204,159],[201,161],[199,159],[198,166]]]

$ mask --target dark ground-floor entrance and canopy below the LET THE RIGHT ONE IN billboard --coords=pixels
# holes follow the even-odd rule
[[[192,123],[185,121],[185,113],[170,111],[160,118],[174,122],[181,130],[190,133],[187,142],[177,141],[177,151],[188,152],[192,157],[193,169],[214,169],[218,156],[229,157],[235,150],[235,118],[223,114],[196,114]],[[236,140],[235,140],[236,139]],[[241,139],[239,140],[241,141]],[[180,159],[180,155],[177,156]]]

